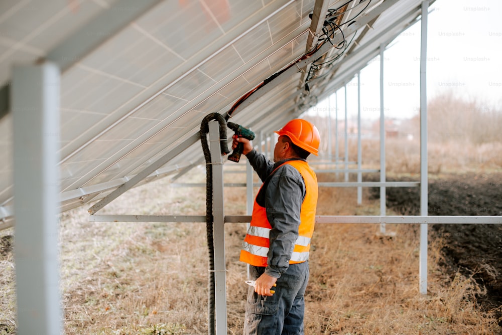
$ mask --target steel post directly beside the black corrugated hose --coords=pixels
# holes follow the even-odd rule
[[[225,217],[223,213],[223,160],[219,123],[209,122],[209,149],[213,166],[213,241],[216,334],[226,334]]]

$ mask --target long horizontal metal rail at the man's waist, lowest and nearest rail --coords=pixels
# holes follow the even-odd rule
[[[203,215],[90,215],[93,222],[206,222]],[[250,215],[226,215],[225,223],[248,223]],[[316,223],[502,224],[502,216],[318,215]]]

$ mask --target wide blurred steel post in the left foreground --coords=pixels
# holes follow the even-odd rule
[[[20,335],[61,333],[59,100],[60,70],[55,64],[14,68],[14,254]]]

